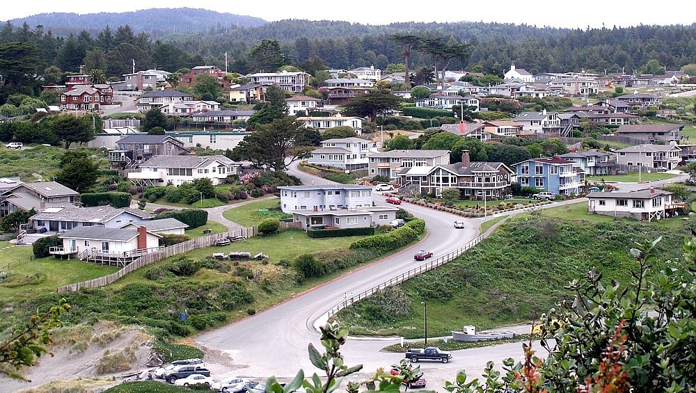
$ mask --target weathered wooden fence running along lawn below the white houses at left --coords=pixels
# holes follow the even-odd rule
[[[111,273],[109,275],[104,275],[104,277],[93,278],[92,280],[86,280],[81,282],[75,282],[74,284],[65,285],[64,287],[58,287],[58,293],[68,292],[68,291],[79,291],[81,288],[99,288],[105,285],[111,284],[112,282],[122,278],[124,275],[135,271],[143,266],[147,266],[162,259],[173,257],[174,255],[182,254],[184,252],[189,252],[191,250],[198,250],[198,248],[204,248],[209,246],[214,246],[218,239],[222,239],[226,236],[244,236],[245,238],[253,237],[258,234],[256,227],[239,228],[237,230],[231,230],[228,232],[209,234],[196,239],[191,239],[184,241],[182,243],[177,243],[173,246],[165,247],[161,251],[151,252],[142,257],[139,257],[135,261],[131,262],[120,271],[116,273]]]

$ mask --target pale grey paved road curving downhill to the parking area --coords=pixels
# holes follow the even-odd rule
[[[303,184],[331,184],[325,179],[297,170],[296,166],[291,166],[288,172],[300,177]],[[647,189],[650,186],[677,182],[681,179],[683,177],[651,184],[622,184],[621,189],[622,191]],[[377,204],[385,204],[383,197],[379,194],[375,195],[374,200]],[[559,202],[550,206],[583,201],[586,199]],[[452,220],[455,217],[461,219],[459,216],[408,203],[402,204],[402,207],[411,214],[425,219],[427,223],[427,237],[417,246],[381,259],[322,287],[299,294],[253,317],[200,335],[196,337],[196,343],[230,354],[232,359],[240,364],[239,369],[230,370],[230,375],[250,378],[267,378],[274,375],[277,378],[292,378],[298,369],[304,369],[306,377],[317,372],[309,361],[307,345],[312,342],[317,348],[321,348],[315,324],[325,321],[326,312],[342,302],[345,294],[348,294],[348,301],[350,301],[349,294],[357,294],[374,287],[421,264],[422,262],[413,261],[413,248],[432,250],[434,257],[438,257],[463,246],[477,236],[478,227],[482,222],[480,219],[465,218],[466,229],[454,230]],[[370,378],[379,367],[387,369],[391,364],[399,362],[402,355],[379,351],[383,346],[399,341],[395,338],[358,339],[353,337],[349,339],[342,348],[347,364],[363,364],[364,366],[363,372],[349,377],[349,380]],[[535,348],[537,355],[543,357],[544,351],[539,346]],[[427,376],[428,389],[442,392],[445,380],[454,380],[459,369],[466,369],[468,376],[477,378],[488,360],[496,362],[500,369],[500,361],[505,358],[522,360],[521,344],[500,344],[456,351],[452,362],[447,364],[422,362],[420,367]]]

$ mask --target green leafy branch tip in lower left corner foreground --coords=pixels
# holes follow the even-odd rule
[[[32,366],[37,358],[48,353],[47,345],[53,342],[51,330],[63,325],[59,317],[69,310],[68,302],[61,299],[44,314],[31,316],[24,328],[14,330],[13,336],[0,344],[0,374],[31,382],[16,371]]]

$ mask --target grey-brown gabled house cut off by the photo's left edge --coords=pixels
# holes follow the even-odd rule
[[[24,183],[0,178],[0,217],[15,211],[36,211],[47,207],[77,206],[80,193],[57,182]]]

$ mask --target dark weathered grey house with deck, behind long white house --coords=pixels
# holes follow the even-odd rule
[[[189,154],[189,150],[174,136],[130,134],[116,142],[115,150],[109,150],[109,163],[112,168],[135,168],[155,156],[182,154]]]

